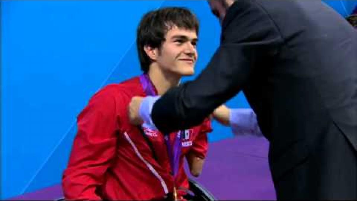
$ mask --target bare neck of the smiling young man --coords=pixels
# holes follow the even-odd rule
[[[149,75],[152,84],[154,84],[158,95],[162,95],[171,87],[177,86],[181,80],[181,76],[163,72],[156,66],[151,66],[147,74]]]

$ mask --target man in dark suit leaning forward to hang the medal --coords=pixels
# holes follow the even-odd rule
[[[222,24],[211,62],[159,99],[133,98],[131,121],[189,128],[243,90],[278,199],[357,200],[356,30],[321,0],[209,3]]]

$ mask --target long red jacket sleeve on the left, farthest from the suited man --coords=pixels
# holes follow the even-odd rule
[[[96,190],[116,150],[118,128],[112,91],[95,94],[77,118],[77,134],[62,176],[66,200],[101,200]]]

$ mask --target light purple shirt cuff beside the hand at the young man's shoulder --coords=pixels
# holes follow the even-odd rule
[[[157,131],[157,128],[151,119],[151,110],[152,110],[152,107],[154,106],[156,100],[159,98],[160,98],[159,95],[147,96],[142,100],[142,102],[140,104],[140,108],[139,108],[139,115],[140,115],[141,119],[144,121],[144,123],[142,124],[142,127],[150,128],[150,129]]]

